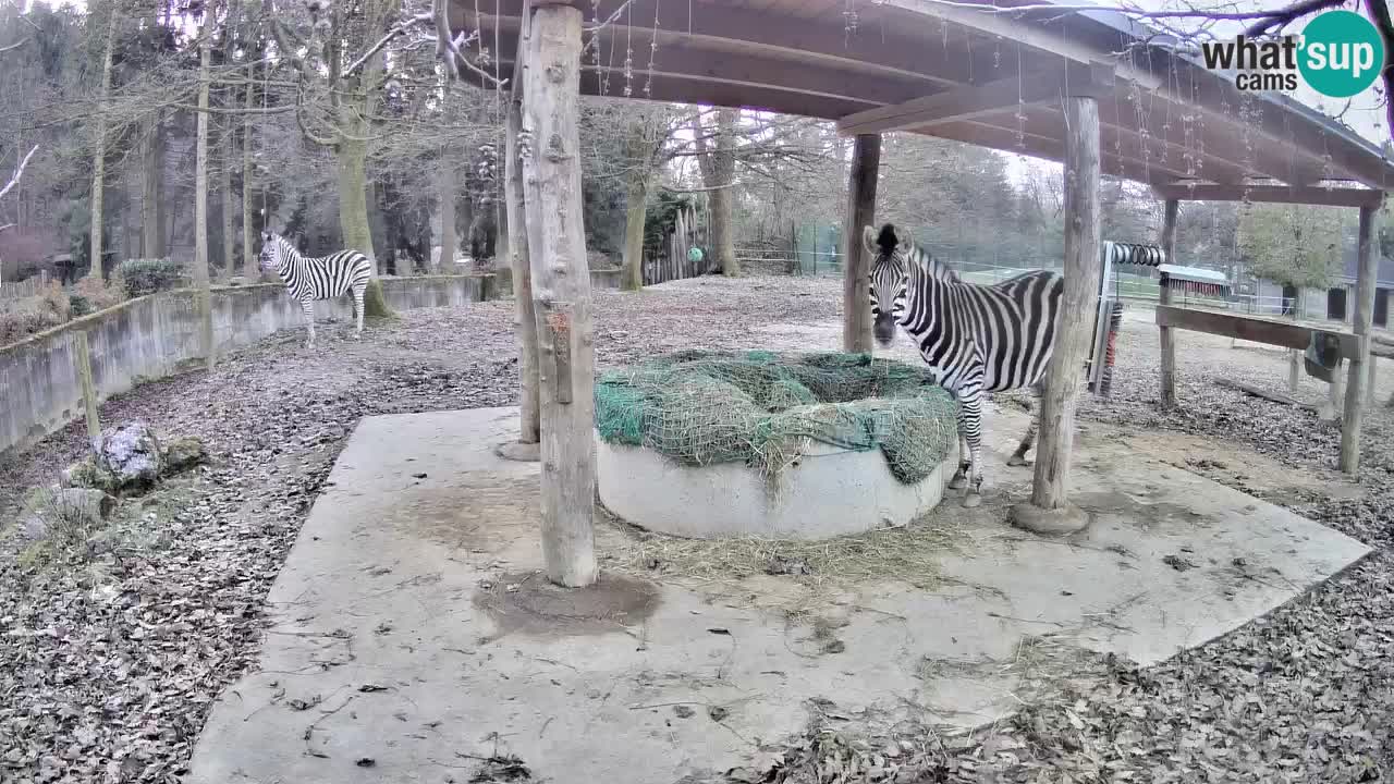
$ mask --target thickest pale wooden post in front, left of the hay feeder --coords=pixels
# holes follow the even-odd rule
[[[563,586],[597,579],[595,347],[581,225],[581,11],[533,11],[523,66],[523,186],[538,332],[542,557]]]

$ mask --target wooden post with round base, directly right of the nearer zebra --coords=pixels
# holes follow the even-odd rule
[[[1041,395],[1032,501],[1012,511],[1018,525],[1041,533],[1078,530],[1089,520],[1066,504],[1066,497],[1079,379],[1098,297],[1098,99],[1092,95],[1066,98],[1065,127],[1069,128],[1065,140],[1065,293]]]

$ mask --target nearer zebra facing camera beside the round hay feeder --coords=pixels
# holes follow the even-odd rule
[[[861,232],[871,265],[871,317],[875,339],[889,346],[895,326],[914,339],[938,382],[959,400],[959,456],[951,488],[967,487],[965,506],[983,502],[983,393],[1030,388],[1037,395],[1055,346],[1059,301],[1065,290],[1057,272],[1026,272],[980,286],[959,280],[942,261],[896,236],[891,223],[880,234]],[[881,310],[889,301],[891,310]],[[1032,414],[1009,465],[1025,466],[1036,441],[1040,409]],[[965,469],[967,474],[965,476]]]

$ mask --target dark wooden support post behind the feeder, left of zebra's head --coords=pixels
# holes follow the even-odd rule
[[[861,244],[861,227],[875,220],[875,186],[881,172],[881,135],[857,134],[852,145],[848,183],[848,223],[842,232],[846,259],[842,280],[842,350],[871,352],[871,259]],[[817,230],[814,232],[817,236]],[[813,258],[817,269],[818,257]]]

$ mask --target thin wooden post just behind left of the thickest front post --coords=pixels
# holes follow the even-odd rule
[[[523,29],[519,32],[519,52],[527,45],[527,8],[523,10]],[[507,103],[506,140],[503,162],[503,197],[506,201],[509,230],[509,268],[513,271],[513,312],[517,321],[519,345],[519,445],[524,449],[509,449],[505,455],[523,459],[537,459],[534,445],[541,439],[541,419],[538,414],[537,382],[537,317],[533,311],[533,268],[528,264],[528,226],[523,205],[523,165],[519,159],[519,131],[523,128],[523,63],[514,64],[513,85]],[[453,211],[452,211],[453,212]],[[454,215],[449,216],[452,226]],[[454,248],[441,250],[442,266],[446,254],[454,261]],[[453,271],[452,268],[449,268]]]

